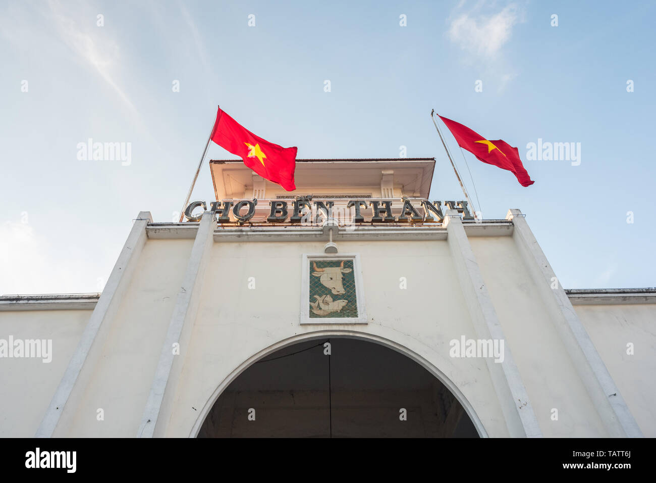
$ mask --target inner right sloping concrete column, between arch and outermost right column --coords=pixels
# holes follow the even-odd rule
[[[446,210],[447,241],[458,273],[462,294],[469,309],[476,334],[480,339],[504,340],[504,359],[498,363],[486,357],[492,383],[506,419],[511,437],[541,437],[533,407],[529,401],[520,372],[510,353],[492,300],[485,287],[472,246],[462,227],[457,210]]]

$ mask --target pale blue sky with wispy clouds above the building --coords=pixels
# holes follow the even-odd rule
[[[643,1],[2,0],[0,294],[102,290],[140,211],[176,218],[218,104],[298,158],[435,157],[430,198],[462,199],[434,108],[518,147],[526,188],[446,134],[483,218],[520,208],[563,287],[656,286],[655,14]],[[85,159],[88,139],[129,156]],[[529,160],[539,139],[577,156]],[[192,199],[213,198],[206,161]]]

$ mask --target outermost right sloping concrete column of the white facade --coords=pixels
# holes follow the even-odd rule
[[[585,331],[569,298],[520,210],[508,210],[514,238],[533,281],[538,287],[560,339],[571,357],[592,402],[611,437],[642,437],[642,432],[628,410],[604,361]],[[553,287],[553,288],[552,288]]]

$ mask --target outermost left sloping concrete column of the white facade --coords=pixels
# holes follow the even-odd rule
[[[107,331],[107,323],[111,321],[119,308],[123,294],[129,285],[134,267],[139,255],[146,244],[148,235],[146,235],[146,226],[152,223],[153,219],[150,212],[139,212],[130,235],[123,245],[123,250],[114,265],[112,274],[108,279],[96,308],[91,313],[91,318],[85,327],[82,337],[77,344],[75,353],[71,357],[66,372],[62,377],[57,390],[52,396],[51,403],[43,416],[41,425],[35,436],[37,438],[50,438],[56,426],[60,423],[60,418],[66,404],[69,400],[74,401],[75,396],[81,392],[87,385],[89,373],[91,373],[95,360],[87,359],[94,344],[102,344],[104,334]],[[96,350],[99,354],[100,351]],[[97,357],[97,354],[96,354]],[[74,409],[74,408],[73,408]],[[69,412],[69,411],[67,411]]]

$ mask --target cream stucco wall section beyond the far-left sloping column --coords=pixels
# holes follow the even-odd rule
[[[0,311],[0,338],[52,339],[52,360],[0,359],[0,437],[34,436],[91,310]]]

